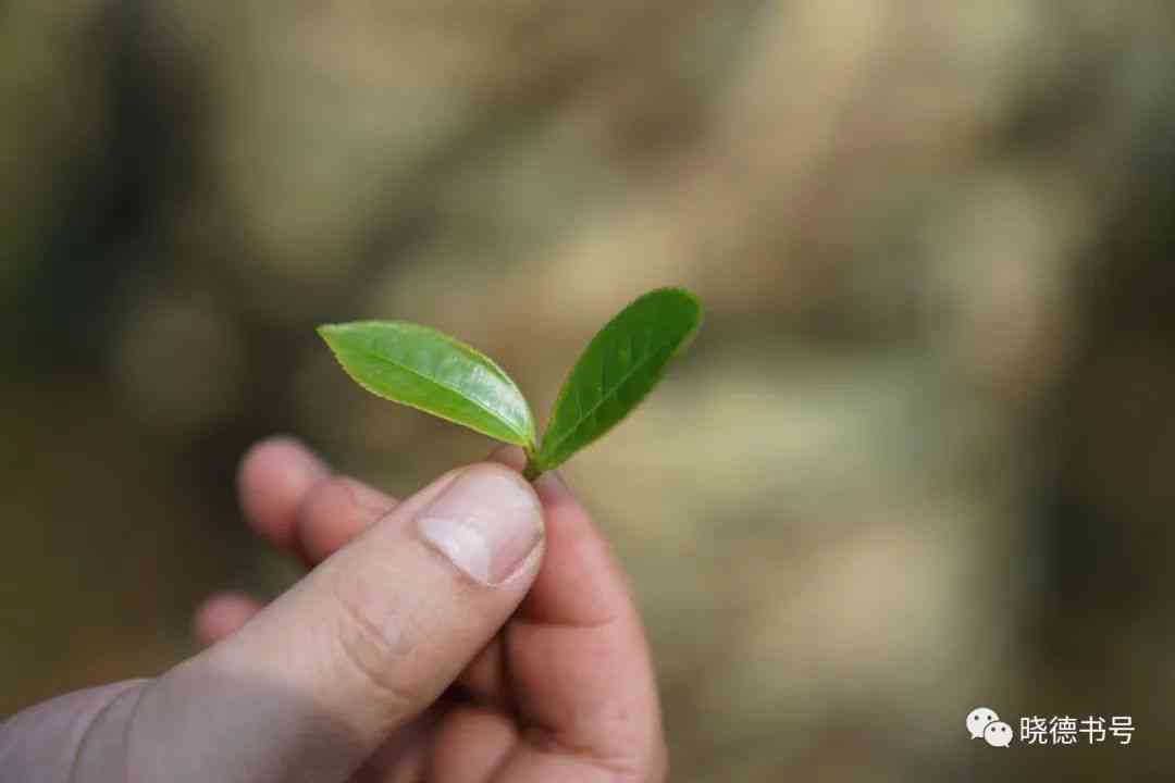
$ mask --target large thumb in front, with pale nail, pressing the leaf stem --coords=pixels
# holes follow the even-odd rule
[[[542,506],[518,473],[479,464],[445,474],[153,682],[132,727],[145,736],[128,742],[143,757],[130,762],[175,779],[183,748],[203,779],[342,779],[501,629],[542,542]]]

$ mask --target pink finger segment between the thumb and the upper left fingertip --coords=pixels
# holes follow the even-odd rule
[[[350,477],[320,481],[297,509],[294,548],[316,566],[395,507],[395,498]]]

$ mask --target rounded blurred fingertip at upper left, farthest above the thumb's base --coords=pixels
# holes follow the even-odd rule
[[[241,508],[257,533],[289,549],[298,507],[307,493],[329,475],[325,463],[297,440],[262,440],[246,452],[237,468]]]

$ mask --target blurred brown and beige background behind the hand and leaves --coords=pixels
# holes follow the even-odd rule
[[[315,324],[452,332],[545,419],[682,284],[698,340],[565,471],[673,779],[1168,779],[1173,67],[1163,2],[0,5],[0,714],[297,576],[255,439],[396,494],[488,452]]]

